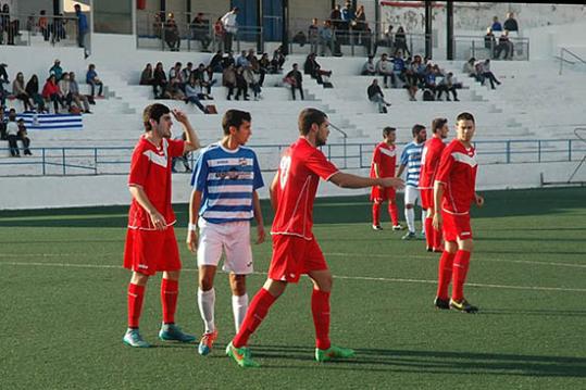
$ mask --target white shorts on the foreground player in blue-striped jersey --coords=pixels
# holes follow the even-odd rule
[[[199,218],[198,227],[198,266],[217,266],[224,249],[226,256],[223,271],[236,275],[248,275],[253,272],[249,221],[211,224]]]

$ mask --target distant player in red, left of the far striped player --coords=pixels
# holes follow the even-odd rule
[[[395,127],[385,127],[383,129],[383,142],[374,148],[374,153],[371,164],[371,177],[395,177],[395,168],[397,166],[397,148],[395,140],[397,139]],[[375,186],[371,191],[372,204],[372,228],[383,230],[381,226],[381,204],[388,201],[388,214],[392,222],[392,230],[401,230],[399,225],[399,216],[397,211],[397,202],[395,201],[395,188]]]

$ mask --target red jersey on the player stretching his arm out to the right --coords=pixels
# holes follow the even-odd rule
[[[313,239],[313,201],[320,184],[339,172],[324,153],[304,138],[299,138],[280,158],[276,186],[277,210],[273,235]]]

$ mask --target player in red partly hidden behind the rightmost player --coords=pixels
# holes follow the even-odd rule
[[[437,174],[439,158],[446,146],[444,139],[450,131],[448,119],[438,117],[432,122],[433,137],[425,142],[421,158],[420,192],[421,206],[427,211],[425,218],[425,240],[428,252],[441,252],[441,230],[432,226],[434,217],[434,180]]]

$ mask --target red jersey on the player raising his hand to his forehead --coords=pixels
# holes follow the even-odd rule
[[[183,155],[185,141],[163,138],[157,148],[144,136],[135,147],[130,163],[128,186],[140,186],[152,205],[163,215],[167,226],[175,224],[171,206],[171,159]],[[128,212],[128,227],[154,230],[148,212],[133,199]]]

